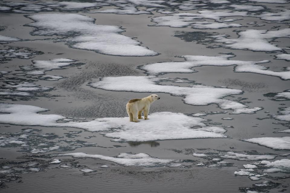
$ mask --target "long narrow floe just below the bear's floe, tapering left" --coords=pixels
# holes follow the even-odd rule
[[[118,163],[124,166],[145,166],[145,167],[161,167],[161,166],[171,166],[175,165],[176,167],[181,166],[176,165],[178,162],[176,160],[168,160],[168,159],[158,159],[156,157],[151,157],[146,153],[120,153],[116,157],[109,157],[103,155],[92,155],[86,153],[64,153],[64,154],[56,154],[56,156],[72,156],[77,158],[95,158],[100,160],[106,160],[114,163]]]

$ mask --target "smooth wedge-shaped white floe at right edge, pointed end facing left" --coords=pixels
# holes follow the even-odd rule
[[[243,141],[256,143],[273,149],[290,149],[290,137],[252,138]]]

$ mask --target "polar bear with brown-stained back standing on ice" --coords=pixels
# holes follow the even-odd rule
[[[157,94],[151,94],[143,99],[130,100],[126,105],[130,121],[139,122],[138,119],[142,119],[142,111],[144,111],[144,119],[148,119],[150,104],[158,99],[160,99],[160,97]]]

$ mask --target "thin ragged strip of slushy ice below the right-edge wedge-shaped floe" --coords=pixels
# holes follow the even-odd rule
[[[275,159],[274,155],[248,155],[235,152],[227,152],[221,156],[225,159],[243,160],[243,161],[255,161],[255,160],[272,160]]]

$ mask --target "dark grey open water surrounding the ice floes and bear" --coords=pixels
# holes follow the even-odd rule
[[[14,1],[22,2],[22,1]],[[29,1],[23,1],[31,3]],[[81,1],[82,2],[82,1]],[[91,2],[91,1],[90,1]],[[92,1],[94,2],[94,1]],[[32,2],[33,3],[33,2]],[[35,2],[37,3],[37,2]],[[239,4],[242,2],[232,1]],[[267,4],[252,3],[249,5],[263,5],[270,11],[288,8],[289,4]],[[197,13],[199,10],[214,10],[216,5],[208,4],[208,8],[198,8],[197,10],[180,11]],[[3,5],[4,6],[4,5]],[[139,6],[139,10],[143,9]],[[279,6],[284,6],[280,8]],[[101,8],[101,10],[111,9],[112,6]],[[178,8],[173,7],[178,10]],[[15,7],[15,9],[20,9]],[[5,59],[0,64],[0,71],[12,71],[8,75],[0,76],[1,84],[11,81],[31,81],[41,87],[54,87],[53,90],[44,93],[35,93],[31,97],[23,96],[3,96],[3,103],[32,105],[49,109],[40,114],[57,114],[68,118],[79,118],[82,121],[105,118],[105,117],[125,117],[127,112],[125,105],[132,98],[142,98],[151,93],[136,93],[125,91],[101,90],[88,86],[89,82],[98,81],[103,77],[115,76],[145,76],[144,71],[137,68],[140,65],[156,62],[183,61],[175,56],[182,55],[207,55],[216,56],[220,53],[231,52],[236,55],[233,60],[260,61],[270,60],[267,64],[272,71],[281,71],[283,67],[289,66],[285,60],[275,60],[274,55],[287,53],[283,52],[253,52],[250,50],[233,50],[222,47],[212,48],[216,45],[210,35],[226,34],[232,38],[237,38],[236,31],[233,30],[270,30],[275,26],[288,28],[288,20],[282,23],[265,23],[265,21],[254,17],[235,17],[242,20],[234,23],[243,24],[248,27],[223,28],[214,30],[195,30],[190,27],[154,27],[150,21],[152,17],[165,16],[165,14],[153,11],[153,15],[120,15],[105,13],[84,13],[84,10],[74,11],[77,14],[95,18],[95,24],[122,26],[126,31],[125,36],[136,37],[135,40],[142,42],[142,46],[154,50],[160,55],[127,57],[103,55],[90,50],[69,48],[65,42],[55,42],[47,38],[57,38],[56,36],[32,36],[30,33],[35,30],[32,27],[24,26],[32,20],[24,17],[26,14],[42,13],[62,13],[60,10],[51,12],[40,11],[39,13],[13,13],[2,11],[0,13],[0,26],[3,36],[17,37],[27,41],[15,41],[1,43],[1,49],[29,48],[38,55],[31,55],[29,59],[11,58]],[[221,9],[223,10],[223,9]],[[225,10],[228,10],[225,8]],[[68,11],[64,11],[68,12]],[[257,14],[260,12],[257,12]],[[230,18],[230,17],[229,17]],[[211,21],[211,20],[208,20]],[[265,24],[261,27],[247,25],[250,22]],[[1,28],[2,29],[2,28]],[[289,46],[289,38],[279,38],[276,42],[279,47]],[[40,53],[43,52],[43,53]],[[55,58],[69,58],[77,60],[82,65],[65,67],[62,70],[47,71],[46,74],[59,75],[67,78],[59,81],[45,81],[29,76],[25,76],[20,71],[20,66],[29,66],[31,60],[50,60]],[[289,159],[289,150],[274,150],[258,144],[241,141],[249,138],[261,137],[284,137],[287,133],[273,133],[278,130],[289,128],[289,122],[272,119],[272,115],[277,114],[279,108],[289,107],[289,100],[283,101],[273,99],[273,95],[267,93],[280,93],[288,90],[289,81],[283,81],[278,77],[266,76],[255,73],[234,72],[234,66],[217,67],[202,66],[195,67],[195,73],[169,73],[160,77],[166,78],[186,78],[203,84],[216,87],[228,87],[231,89],[243,90],[240,95],[227,96],[225,99],[238,100],[250,108],[263,107],[263,110],[255,114],[230,114],[231,110],[222,113],[216,104],[206,106],[192,106],[183,102],[184,97],[172,96],[169,93],[158,93],[162,100],[156,101],[150,108],[153,112],[180,112],[180,113],[208,113],[203,118],[208,126],[223,127],[228,138],[204,138],[186,140],[164,140],[149,142],[112,142],[112,138],[106,138],[101,132],[89,132],[78,128],[43,127],[43,126],[19,126],[0,124],[0,136],[18,137],[25,134],[25,129],[31,128],[31,136],[27,139],[28,146],[19,144],[8,144],[0,146],[0,171],[4,171],[5,166],[11,166],[13,170],[10,174],[0,173],[0,192],[280,192],[289,191],[289,171],[279,173],[269,173],[268,176],[261,177],[258,181],[252,181],[248,176],[236,176],[235,171],[244,169],[243,164],[250,164],[256,161],[239,161],[224,159],[224,153],[233,151],[242,154],[254,155],[280,155],[275,160]],[[190,86],[188,83],[162,82],[161,84]],[[142,85],[140,85],[142,86]],[[5,89],[4,86],[1,89]],[[214,113],[220,112],[220,113]],[[231,117],[234,120],[223,120]],[[266,118],[266,119],[264,119]],[[42,134],[46,134],[43,136]],[[0,140],[1,142],[1,140]],[[32,154],[33,148],[43,146],[60,146],[58,150],[51,150],[43,153]],[[109,157],[116,157],[119,153],[147,153],[159,159],[181,160],[182,167],[141,167],[122,166],[120,164],[94,159],[94,158],[72,158],[69,156],[60,157],[57,153],[82,152],[87,154],[99,154]],[[215,165],[218,161],[212,161],[206,157],[194,157],[192,153],[205,153],[211,155],[211,159],[218,158],[228,164]],[[283,156],[282,156],[283,155]],[[53,159],[60,159],[61,164],[49,164]],[[274,160],[269,160],[274,161]],[[195,166],[204,163],[204,166]],[[35,164],[35,165],[29,165]],[[63,168],[67,165],[71,168]],[[107,165],[109,168],[100,168]],[[31,171],[37,168],[39,171]],[[95,172],[83,173],[80,169],[92,169]],[[256,173],[262,174],[263,166],[256,169]],[[264,181],[270,185],[255,186],[256,183]],[[248,189],[247,189],[248,188]]]

